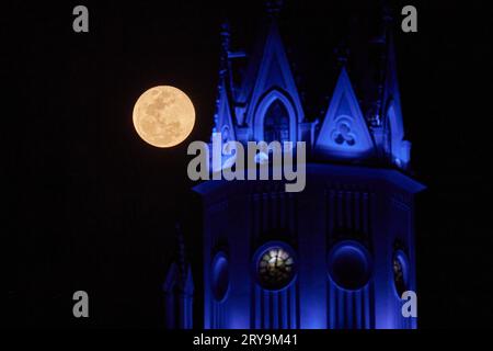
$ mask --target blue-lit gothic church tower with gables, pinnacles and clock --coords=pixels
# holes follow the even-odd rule
[[[374,45],[371,79],[340,55],[326,111],[306,114],[277,25],[276,7],[255,50],[222,54],[214,134],[222,140],[305,141],[307,185],[206,181],[205,328],[415,328],[401,314],[415,291],[414,195],[408,176],[389,18]],[[342,50],[344,52],[344,50]],[[236,60],[246,60],[241,79]],[[321,77],[323,79],[323,77]],[[328,89],[328,91],[330,88]]]

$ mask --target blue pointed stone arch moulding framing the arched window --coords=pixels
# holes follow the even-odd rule
[[[289,140],[293,143],[297,141],[297,113],[291,99],[278,89],[273,89],[267,92],[259,102],[253,120],[253,138],[255,140],[264,140],[264,120],[268,107],[278,100],[288,113],[289,117]]]

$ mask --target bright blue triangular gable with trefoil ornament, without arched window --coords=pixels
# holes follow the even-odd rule
[[[326,158],[358,160],[374,152],[371,136],[345,68],[339,76],[317,138],[316,152]]]

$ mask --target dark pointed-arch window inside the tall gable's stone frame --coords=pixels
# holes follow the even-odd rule
[[[278,99],[265,112],[264,141],[289,141],[289,114]]]

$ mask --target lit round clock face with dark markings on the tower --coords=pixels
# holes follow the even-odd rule
[[[259,254],[256,273],[263,287],[283,288],[295,276],[295,259],[288,250],[279,246],[267,247]]]

